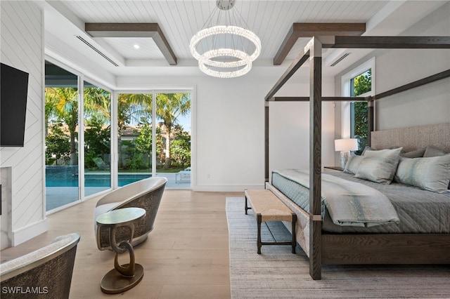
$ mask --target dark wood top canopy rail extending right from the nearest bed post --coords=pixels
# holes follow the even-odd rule
[[[323,48],[450,48],[450,36],[334,36]]]

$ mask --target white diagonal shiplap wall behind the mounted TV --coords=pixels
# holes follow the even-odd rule
[[[11,167],[12,246],[47,230],[44,206],[44,13],[34,1],[0,1],[1,62],[28,72],[24,147],[0,147]],[[13,125],[13,124],[12,124]]]

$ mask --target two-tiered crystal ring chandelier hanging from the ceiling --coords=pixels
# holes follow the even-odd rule
[[[202,72],[212,77],[233,78],[247,74],[261,53],[259,37],[246,29],[242,16],[233,8],[236,0],[217,0],[216,8],[194,34],[190,50]],[[215,21],[217,25],[212,26]],[[231,25],[231,23],[235,25]]]

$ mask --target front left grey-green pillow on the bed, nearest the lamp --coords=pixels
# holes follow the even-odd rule
[[[390,184],[397,170],[402,149],[403,147],[395,150],[366,151],[354,177]]]

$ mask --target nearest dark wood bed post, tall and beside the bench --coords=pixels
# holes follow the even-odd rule
[[[322,277],[321,262],[321,152],[322,152],[322,44],[309,42],[309,274]]]

